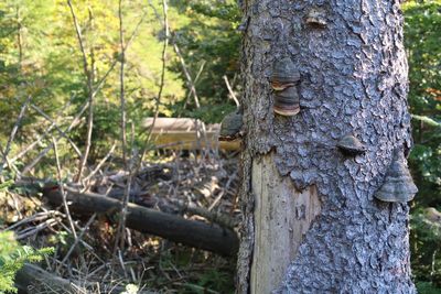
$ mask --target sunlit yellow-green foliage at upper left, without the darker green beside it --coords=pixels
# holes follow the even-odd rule
[[[125,97],[128,118],[135,124],[153,113],[162,70],[162,40],[158,37],[162,23],[155,14],[161,11],[161,1],[149,2],[151,7],[142,0],[123,1],[122,7],[125,43],[130,41],[126,51]],[[110,142],[120,137],[118,2],[76,0],[72,3],[93,88],[99,86],[100,89],[94,97],[94,142],[90,151],[94,161],[103,156]],[[180,17],[173,10],[170,14],[171,23],[176,23],[175,19]],[[89,96],[84,58],[66,1],[1,1],[0,52],[0,142],[6,141],[29,95],[32,96],[32,104],[56,119],[61,129],[66,129]],[[166,63],[174,62],[175,55],[169,46]],[[57,115],[72,97],[75,97],[72,106]],[[183,98],[183,83],[179,74],[166,68],[160,115],[171,116],[168,106]],[[62,117],[68,119],[62,120]],[[87,112],[83,115],[79,126],[71,131],[71,138],[79,148],[85,143],[86,118]],[[44,132],[49,124],[40,113],[28,109],[17,142],[29,142],[30,137]],[[143,132],[140,128],[136,131],[137,138]],[[51,138],[43,140],[45,145],[50,142]],[[66,148],[61,152],[72,153],[68,144]]]

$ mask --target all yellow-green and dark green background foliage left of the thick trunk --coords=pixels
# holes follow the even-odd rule
[[[120,139],[120,40],[118,2],[111,0],[72,1],[76,14],[84,54],[92,76],[94,96],[94,130],[89,163],[103,157]],[[128,44],[125,65],[125,98],[127,133],[133,132],[133,144],[143,148],[146,130],[141,121],[152,116],[162,74],[164,32],[162,1],[123,1],[123,35]],[[41,15],[44,15],[43,18]],[[239,11],[235,0],[171,0],[169,22],[172,32],[168,47],[164,87],[159,105],[162,117],[180,116],[219,122],[235,108],[228,98],[223,76],[239,91],[238,59],[240,34]],[[189,97],[186,78],[173,43],[185,58],[192,78],[203,70],[195,84],[201,108]],[[64,0],[7,0],[0,2],[0,143],[2,145],[28,98],[65,130],[88,100],[84,56]],[[189,98],[187,98],[189,97]],[[71,106],[60,112],[68,101]],[[37,111],[28,108],[10,156],[18,154],[35,135],[51,124]],[[69,138],[80,151],[87,134],[87,111],[69,131]],[[53,130],[35,149],[22,159],[24,165],[52,143]],[[129,140],[130,141],[130,140]],[[131,143],[131,141],[130,141]],[[58,143],[61,159],[75,166],[72,146],[63,139]],[[120,150],[120,149],[118,149]],[[66,155],[66,156],[65,156]],[[34,171],[45,177],[52,174],[53,161],[44,159]]]

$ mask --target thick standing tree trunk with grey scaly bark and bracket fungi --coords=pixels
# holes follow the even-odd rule
[[[411,148],[399,6],[243,1],[238,293],[416,292],[409,207],[375,198]]]

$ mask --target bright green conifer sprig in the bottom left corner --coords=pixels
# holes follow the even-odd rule
[[[13,280],[25,262],[39,262],[43,255],[51,254],[52,248],[34,250],[20,246],[9,231],[0,232],[0,293],[17,292]]]

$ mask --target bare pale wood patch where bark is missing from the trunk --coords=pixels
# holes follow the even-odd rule
[[[255,244],[251,293],[270,293],[282,282],[304,233],[320,214],[315,186],[297,192],[289,177],[280,176],[272,153],[252,163]]]

